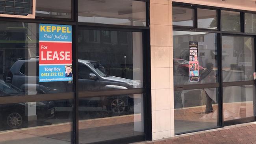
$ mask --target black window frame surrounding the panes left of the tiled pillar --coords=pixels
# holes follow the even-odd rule
[[[6,96],[0,97],[0,104],[21,103],[21,102],[38,102],[48,100],[73,100],[72,128],[70,129],[70,144],[79,142],[79,122],[78,122],[78,103],[79,98],[92,98],[99,96],[113,96],[119,94],[143,94],[143,111],[144,111],[144,135],[113,139],[108,141],[96,142],[97,144],[125,144],[143,140],[152,140],[152,118],[151,118],[151,66],[150,66],[150,19],[149,19],[149,0],[137,0],[145,2],[146,5],[146,26],[122,26],[112,24],[98,24],[78,22],[78,0],[72,0],[72,18],[51,18],[36,17],[35,19],[20,19],[0,17],[0,21],[7,22],[30,22],[45,24],[63,24],[72,26],[72,70],[73,70],[73,92],[64,92],[56,94],[36,94],[24,96]],[[92,30],[119,30],[119,31],[138,31],[143,33],[143,88],[124,89],[124,90],[104,90],[104,91],[87,91],[78,92],[78,31],[80,28]]]

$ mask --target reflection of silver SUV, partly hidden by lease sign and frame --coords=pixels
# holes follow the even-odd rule
[[[9,82],[21,89],[36,88],[37,93],[56,93],[71,91],[72,86],[67,81],[39,82],[39,60],[18,60],[10,68],[6,77]],[[35,69],[37,67],[37,69]],[[104,67],[96,61],[78,60],[79,90],[107,90],[107,89],[130,89],[139,88],[140,83],[134,80],[109,76]],[[89,102],[88,102],[89,101]],[[88,98],[81,102],[81,106],[104,107],[113,113],[128,111],[133,105],[133,99],[129,96],[108,96],[102,98]],[[93,103],[93,104],[92,104]]]

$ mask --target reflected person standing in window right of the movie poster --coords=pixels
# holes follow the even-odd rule
[[[206,64],[206,70],[202,73],[200,80],[202,80],[202,83],[215,83],[216,77],[215,72],[213,70],[213,64],[207,63]],[[213,112],[212,103],[214,100],[216,101],[216,91],[215,88],[208,88],[204,89],[204,93],[206,95],[206,113]]]

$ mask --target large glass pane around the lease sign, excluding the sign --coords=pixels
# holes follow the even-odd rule
[[[72,92],[68,81],[39,82],[39,24],[0,22],[0,96]]]

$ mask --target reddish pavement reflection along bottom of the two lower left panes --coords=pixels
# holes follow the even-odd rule
[[[134,131],[134,122],[141,122],[141,114],[113,116],[80,120],[80,142],[89,143],[95,140],[110,140],[114,138],[141,135]],[[0,132],[0,144],[68,144],[70,143],[71,123],[52,124],[12,131]],[[118,133],[118,134],[117,134]]]

